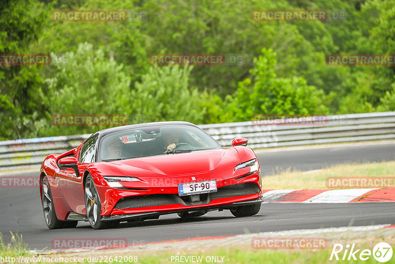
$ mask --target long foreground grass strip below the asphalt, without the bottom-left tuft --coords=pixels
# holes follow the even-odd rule
[[[343,240],[331,240],[328,239],[328,248],[327,249],[316,249],[316,250],[305,250],[305,249],[284,249],[284,250],[271,250],[271,249],[253,249],[249,244],[237,245],[237,246],[221,246],[221,247],[200,247],[200,248],[179,248],[179,249],[169,249],[167,251],[159,251],[159,250],[102,250],[95,252],[86,252],[86,253],[67,253],[67,254],[58,254],[58,256],[62,257],[85,257],[85,259],[89,256],[98,257],[98,256],[126,256],[126,257],[138,257],[137,263],[140,264],[182,264],[182,262],[175,262],[174,259],[171,261],[171,257],[175,256],[201,256],[202,262],[197,263],[215,263],[215,262],[206,262],[205,258],[210,256],[223,256],[223,264],[333,264],[333,263],[365,263],[365,264],[377,264],[378,262],[373,258],[373,256],[369,256],[367,261],[361,262],[358,257],[359,253],[363,249],[373,250],[374,246],[379,242],[387,242],[390,245],[395,245],[395,236],[391,233],[381,234],[380,232],[369,233],[367,237],[359,237],[359,238],[344,238]],[[347,235],[339,234],[342,235]],[[319,237],[319,235],[317,235]],[[341,237],[340,237],[341,238]],[[335,258],[332,261],[329,260],[330,255],[332,253],[334,243],[340,243],[345,246],[346,244],[356,244],[355,250],[360,249],[359,253],[356,254],[357,261],[343,261],[341,260],[344,254],[344,250],[338,254],[339,261],[336,261]],[[50,257],[56,256],[56,254],[49,255]],[[348,255],[347,255],[348,257]],[[346,258],[347,258],[346,257]],[[221,258],[220,258],[221,260]],[[111,262],[111,263],[120,263],[120,262]],[[125,262],[131,263],[134,262]],[[183,264],[189,264],[191,262],[184,262]],[[217,264],[220,262],[217,262]],[[222,264],[221,263],[221,264]],[[387,264],[395,263],[395,252],[393,258],[387,262]],[[134,263],[135,264],[135,263]]]

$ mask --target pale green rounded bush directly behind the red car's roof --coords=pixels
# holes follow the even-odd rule
[[[197,89],[189,88],[192,66],[152,66],[132,91],[133,112],[149,121],[201,123],[206,109],[201,107]]]

